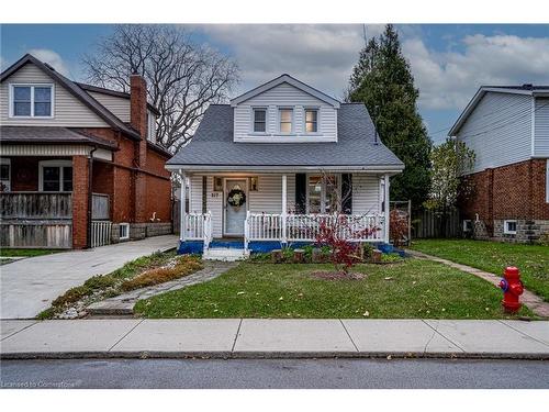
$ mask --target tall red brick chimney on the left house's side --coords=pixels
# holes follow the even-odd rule
[[[142,137],[137,162],[144,167],[147,163],[147,82],[139,75],[130,76],[130,123]]]

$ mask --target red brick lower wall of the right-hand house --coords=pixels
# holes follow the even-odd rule
[[[533,159],[486,169],[469,176],[474,193],[460,200],[467,219],[549,219],[546,202],[546,159]]]

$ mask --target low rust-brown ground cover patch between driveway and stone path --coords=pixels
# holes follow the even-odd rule
[[[146,288],[158,283],[164,283],[173,279],[182,278],[199,269],[202,269],[201,261],[193,256],[182,256],[177,258],[171,267],[160,267],[144,271],[133,279],[122,282],[121,289],[124,291]]]

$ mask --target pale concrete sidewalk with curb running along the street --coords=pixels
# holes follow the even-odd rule
[[[486,357],[549,359],[549,322],[438,320],[1,321],[2,358]]]

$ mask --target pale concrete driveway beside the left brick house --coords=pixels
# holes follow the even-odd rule
[[[126,261],[177,246],[177,236],[156,236],[89,250],[30,257],[0,266],[0,319],[30,319],[52,301],[96,275]]]

